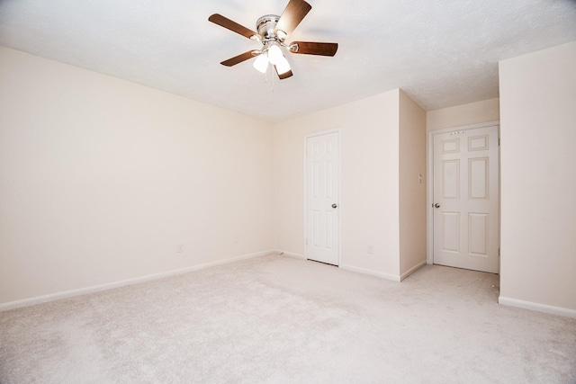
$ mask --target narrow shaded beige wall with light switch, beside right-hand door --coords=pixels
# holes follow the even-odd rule
[[[426,112],[403,92],[400,93],[399,176],[403,278],[426,263]]]

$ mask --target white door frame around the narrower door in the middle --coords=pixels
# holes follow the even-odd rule
[[[318,130],[316,132],[311,132],[304,135],[304,151],[302,156],[304,157],[304,258],[308,260],[308,245],[306,244],[306,238],[308,237],[308,163],[306,158],[306,151],[308,138],[314,138],[316,136],[327,135],[329,133],[338,133],[338,268],[342,263],[342,204],[340,201],[342,200],[342,135],[340,134],[340,129],[325,129],[325,130]]]

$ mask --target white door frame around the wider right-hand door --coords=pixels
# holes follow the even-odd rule
[[[446,129],[435,129],[428,131],[428,169],[427,169],[427,198],[426,198],[426,207],[427,207],[427,250],[426,250],[426,263],[433,264],[434,263],[434,208],[432,207],[433,198],[434,198],[434,135],[438,133],[447,133],[452,132],[454,130],[467,130],[467,129],[477,129],[477,128],[485,128],[485,127],[492,127],[498,126],[498,137],[500,140],[500,121],[487,121],[481,122],[478,124],[469,124],[463,125],[458,127],[451,127]],[[498,164],[498,179],[500,182],[500,146],[498,147],[499,153],[499,164]],[[499,183],[500,189],[500,183]],[[500,249],[500,199],[498,202],[498,218],[499,218],[499,249]],[[500,260],[499,260],[499,272],[500,272]]]

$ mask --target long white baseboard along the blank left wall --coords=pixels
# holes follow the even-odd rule
[[[28,306],[31,306],[34,304],[45,303],[48,301],[54,301],[54,300],[58,300],[58,299],[72,298],[74,296],[80,296],[80,295],[85,295],[88,293],[100,292],[103,290],[112,290],[114,288],[120,288],[120,287],[125,287],[127,285],[138,284],[139,282],[152,281],[152,280],[162,279],[165,277],[175,276],[178,274],[199,271],[199,270],[202,270],[205,268],[210,268],[210,267],[213,267],[216,265],[235,263],[235,262],[238,262],[240,260],[246,260],[246,259],[251,259],[254,257],[258,257],[258,256],[269,255],[269,254],[272,254],[274,252],[275,252],[274,249],[269,249],[266,251],[257,252],[256,254],[241,255],[241,256],[231,257],[231,258],[225,259],[225,260],[219,260],[217,262],[202,263],[202,264],[192,265],[190,267],[186,267],[186,268],[182,268],[182,269],[177,269],[177,270],[172,270],[172,271],[167,271],[167,272],[154,273],[154,274],[148,274],[146,276],[136,277],[134,279],[128,279],[128,280],[123,280],[123,281],[114,281],[114,282],[109,282],[109,283],[105,283],[105,284],[94,285],[92,287],[79,288],[77,290],[64,290],[62,292],[51,293],[49,295],[38,296],[35,298],[30,298],[30,299],[9,301],[7,303],[0,303],[0,311],[10,310],[10,309],[15,309],[15,308],[28,307]]]

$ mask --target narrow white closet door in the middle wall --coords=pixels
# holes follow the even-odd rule
[[[338,265],[338,132],[306,138],[306,258]]]

